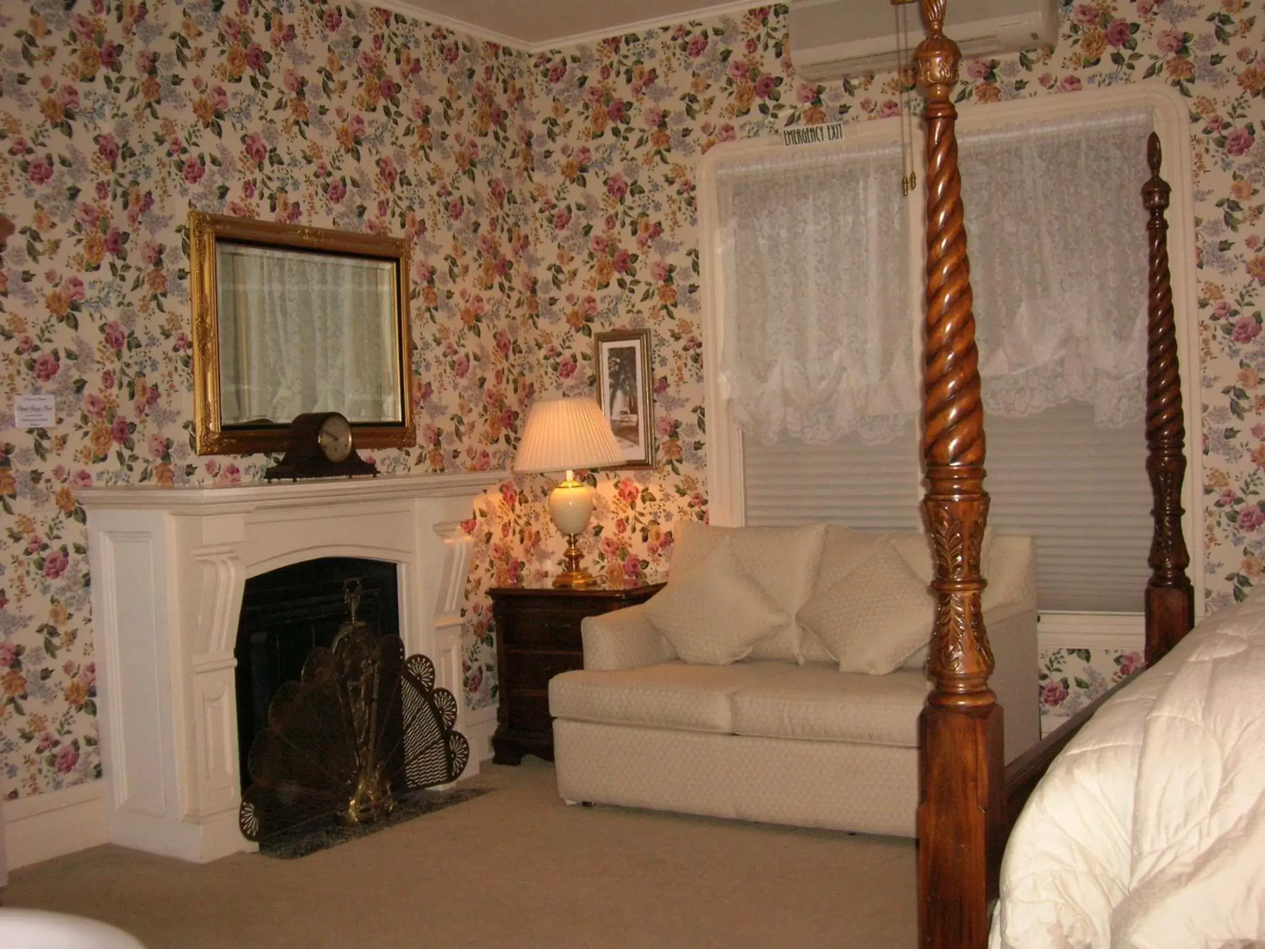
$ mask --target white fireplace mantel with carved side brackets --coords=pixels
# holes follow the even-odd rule
[[[429,655],[436,685],[460,700],[472,548],[460,521],[500,477],[77,492],[87,510],[110,840],[197,862],[254,849],[238,829],[233,658],[248,577],[316,557],[396,563],[405,650]],[[458,709],[464,730],[464,701]],[[469,768],[478,769],[473,743]]]

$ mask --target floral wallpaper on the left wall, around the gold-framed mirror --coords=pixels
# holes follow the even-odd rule
[[[352,3],[4,5],[0,793],[100,772],[76,491],[250,482],[269,463],[192,449],[191,208],[406,235],[421,438],[376,461],[505,466],[530,399],[511,314],[531,261],[506,200],[530,152],[525,68]],[[27,392],[56,396],[54,426],[11,426]],[[488,644],[471,650],[477,677]]]

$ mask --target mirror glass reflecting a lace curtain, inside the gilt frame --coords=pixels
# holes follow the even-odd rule
[[[226,424],[400,418],[390,262],[220,244],[216,272]]]

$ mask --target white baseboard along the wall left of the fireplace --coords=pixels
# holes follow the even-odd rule
[[[109,841],[104,781],[4,802],[10,871]]]

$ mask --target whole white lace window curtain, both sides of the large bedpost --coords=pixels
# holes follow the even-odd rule
[[[1141,418],[1150,130],[1133,109],[960,137],[990,412],[1080,400],[1098,424]],[[898,143],[717,170],[720,372],[762,442],[883,442],[916,415],[923,201],[901,194],[901,173]]]

